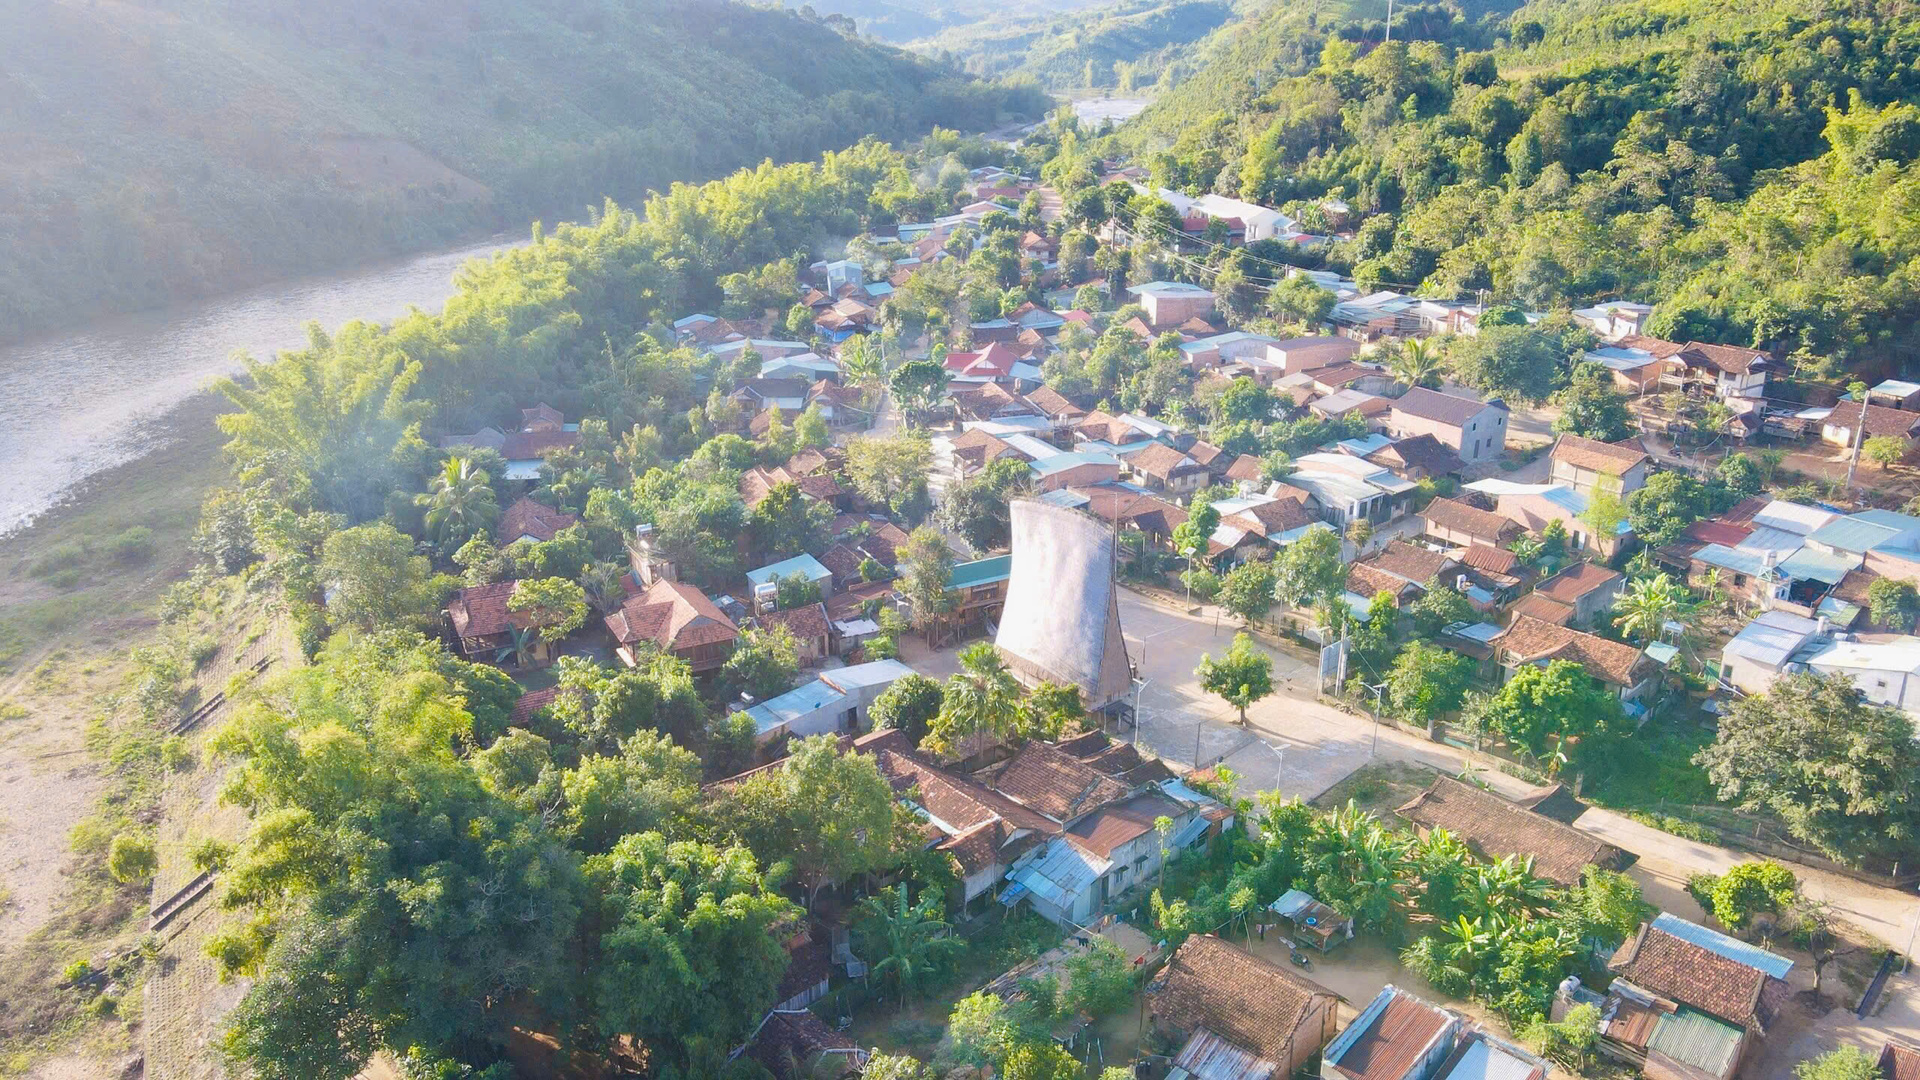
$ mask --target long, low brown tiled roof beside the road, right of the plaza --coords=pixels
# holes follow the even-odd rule
[[[1624,859],[1605,840],[1452,776],[1434,776],[1430,788],[1400,807],[1400,817],[1446,828],[1494,859],[1532,857],[1534,874],[1561,886],[1580,884],[1580,871],[1590,865],[1617,871]]]

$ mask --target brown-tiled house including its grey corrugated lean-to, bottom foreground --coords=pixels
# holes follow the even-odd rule
[[[1340,1028],[1340,995],[1212,934],[1187,938],[1146,988],[1154,1030],[1194,1076],[1294,1076]]]

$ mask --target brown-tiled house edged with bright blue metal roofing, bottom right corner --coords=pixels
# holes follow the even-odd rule
[[[1607,970],[1597,1049],[1674,1080],[1730,1080],[1763,1053],[1793,963],[1674,915],[1645,922]]]

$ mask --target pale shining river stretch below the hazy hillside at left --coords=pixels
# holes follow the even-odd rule
[[[88,477],[167,438],[169,409],[240,371],[236,352],[271,357],[305,344],[303,325],[392,321],[438,311],[453,271],[507,248],[501,238],[328,277],[108,319],[86,331],[0,346],[0,536]]]

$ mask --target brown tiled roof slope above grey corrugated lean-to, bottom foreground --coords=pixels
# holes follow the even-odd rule
[[[1164,1026],[1188,1034],[1206,1028],[1261,1059],[1283,1063],[1315,1003],[1338,997],[1212,934],[1196,934],[1154,978],[1150,1007]],[[1319,1038],[1317,1032],[1302,1036]]]

